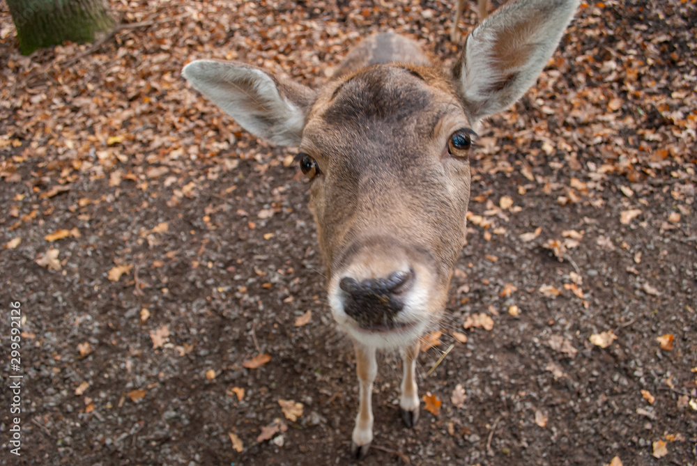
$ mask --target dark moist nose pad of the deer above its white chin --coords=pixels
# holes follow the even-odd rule
[[[360,283],[344,277],[339,288],[346,292],[344,311],[361,327],[390,325],[404,309],[400,295],[411,286],[414,271],[392,272],[386,279],[367,279]]]

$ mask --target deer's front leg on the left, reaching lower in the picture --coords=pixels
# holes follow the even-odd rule
[[[373,408],[371,398],[373,381],[378,373],[378,363],[375,360],[375,348],[355,343],[355,371],[358,374],[358,416],[355,417],[353,428],[353,444],[351,454],[354,458],[362,459],[368,453],[370,442],[373,441]]]

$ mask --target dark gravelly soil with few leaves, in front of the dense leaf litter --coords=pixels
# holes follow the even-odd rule
[[[516,109],[531,105],[526,99]],[[482,135],[496,139],[506,124],[493,118]],[[144,190],[128,180],[109,187],[108,178],[85,176],[50,199],[52,213],[40,221],[13,230],[12,222],[0,223],[1,244],[22,238],[20,247],[0,251],[4,399],[9,302],[20,301],[26,318],[22,456],[8,452],[3,403],[0,464],[349,463],[358,397],[353,350],[332,327],[307,186],[296,166],[282,164],[286,151],[257,146],[246,135],[240,140],[258,150],[256,159],[231,156],[181,173],[197,193],[174,205],[173,188],[163,182]],[[413,430],[401,424],[399,358],[383,355],[374,448],[363,464],[602,465],[615,456],[625,465],[696,464],[697,411],[685,405],[697,403],[694,162],[629,182],[597,177],[589,167],[603,160],[592,148],[579,150],[578,165],[537,150],[531,181],[519,170],[531,160],[527,149],[513,139],[496,141],[473,160],[472,192],[482,198],[470,205],[494,225],[470,226],[443,343],[419,359],[420,393],[436,394],[441,414],[422,410]],[[41,163],[22,164],[22,179]],[[573,178],[588,182],[588,192],[560,205]],[[47,207],[31,184],[2,182],[1,217],[10,218],[18,194],[26,194],[22,214]],[[498,205],[504,195],[521,209],[487,213],[486,200]],[[84,198],[93,202],[80,205]],[[641,215],[620,223],[622,211],[637,207]],[[259,218],[261,210],[273,215]],[[674,211],[682,212],[680,221],[667,222]],[[153,232],[162,222],[167,231]],[[495,226],[503,229],[489,238]],[[537,238],[521,240],[537,227],[543,228]],[[44,236],[59,228],[79,228],[81,235],[48,244]],[[583,238],[560,260],[544,244],[569,230]],[[61,270],[36,263],[49,247],[60,249]],[[119,281],[107,279],[122,264],[133,269]],[[574,274],[583,298],[570,289]],[[517,288],[508,296],[507,284]],[[544,285],[561,294],[546,297]],[[512,305],[519,316],[508,312]],[[307,310],[310,323],[295,327]],[[473,313],[491,316],[493,329],[465,331],[462,323]],[[167,341],[153,348],[151,332],[163,326]],[[454,341],[452,330],[466,332],[468,341]],[[608,348],[590,343],[592,334],[608,330],[617,336]],[[672,350],[659,347],[664,334],[674,336]],[[550,343],[558,337],[573,350]],[[81,355],[85,342],[90,350]],[[259,351],[270,362],[243,368]],[[77,396],[82,382],[89,388]],[[450,401],[458,384],[467,397],[461,408]],[[232,387],[245,389],[241,401]],[[132,401],[135,390],[145,394]],[[302,417],[284,419],[278,399],[302,403]],[[257,442],[277,418],[287,430]],[[243,441],[243,452],[233,450],[229,433]],[[652,443],[659,440],[668,453],[657,459]]]

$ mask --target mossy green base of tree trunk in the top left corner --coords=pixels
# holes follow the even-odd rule
[[[108,33],[115,22],[104,0],[7,0],[17,27],[20,51],[29,55],[64,40],[92,42],[95,33]]]

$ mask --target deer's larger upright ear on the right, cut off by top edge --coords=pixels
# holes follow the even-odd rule
[[[514,104],[535,84],[579,0],[516,0],[467,37],[453,75],[475,120]]]

